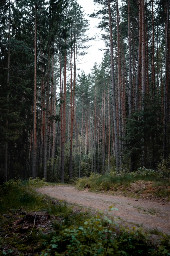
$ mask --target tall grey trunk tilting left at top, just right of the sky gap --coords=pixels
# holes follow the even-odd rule
[[[112,36],[112,22],[110,11],[110,0],[107,0],[108,16],[109,16],[109,31],[110,31],[110,56],[111,56],[111,82],[112,82],[112,101],[113,101],[113,120],[114,120],[114,133],[115,133],[115,151],[116,151],[116,166],[120,165],[119,153],[119,138],[117,127],[117,114],[116,114],[116,97],[115,97],[115,77],[114,77],[114,58],[113,58],[113,36]]]

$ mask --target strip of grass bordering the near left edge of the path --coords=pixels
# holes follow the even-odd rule
[[[70,226],[86,219],[88,212],[73,214],[73,206],[69,206],[63,200],[55,200],[47,195],[37,193],[28,181],[10,180],[0,186],[0,215],[17,210],[23,211],[47,211],[50,215],[56,215],[64,219],[62,225]]]

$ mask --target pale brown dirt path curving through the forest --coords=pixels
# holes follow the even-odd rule
[[[114,205],[119,210],[112,211],[111,214],[120,217],[123,222],[130,223],[131,226],[137,224],[143,228],[158,229],[170,234],[170,202],[96,194],[88,192],[87,189],[79,191],[75,187],[67,185],[41,187],[36,191],[105,212],[109,206]]]

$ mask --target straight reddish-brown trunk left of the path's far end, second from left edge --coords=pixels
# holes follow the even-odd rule
[[[33,165],[32,165],[32,177],[37,176],[36,171],[36,4],[35,4],[35,38],[34,38],[34,122],[33,122]]]

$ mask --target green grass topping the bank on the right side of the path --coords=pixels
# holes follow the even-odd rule
[[[117,174],[110,173],[107,175],[99,175],[92,173],[89,178],[80,178],[77,180],[76,187],[78,189],[89,188],[90,191],[118,191],[120,186],[124,187],[124,194],[126,194],[126,188],[130,188],[132,183],[136,181],[151,181],[151,186],[158,189],[153,191],[154,196],[166,197],[170,199],[170,179],[163,179],[157,176],[154,172],[145,173],[131,173],[131,174]]]

